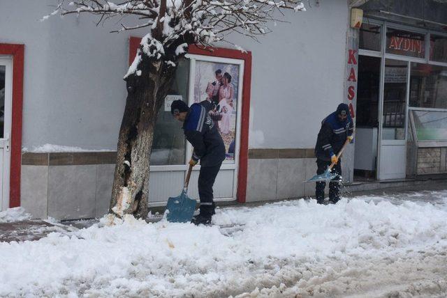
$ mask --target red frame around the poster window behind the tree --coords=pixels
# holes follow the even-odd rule
[[[137,53],[141,38],[131,37],[129,40],[129,64]],[[237,49],[223,49],[220,47],[200,48],[190,45],[189,54],[233,58],[244,60],[244,86],[242,88],[242,120],[239,150],[239,171],[237,175],[237,201],[245,203],[247,196],[247,167],[249,159],[249,117],[251,94],[251,52],[241,52]]]

